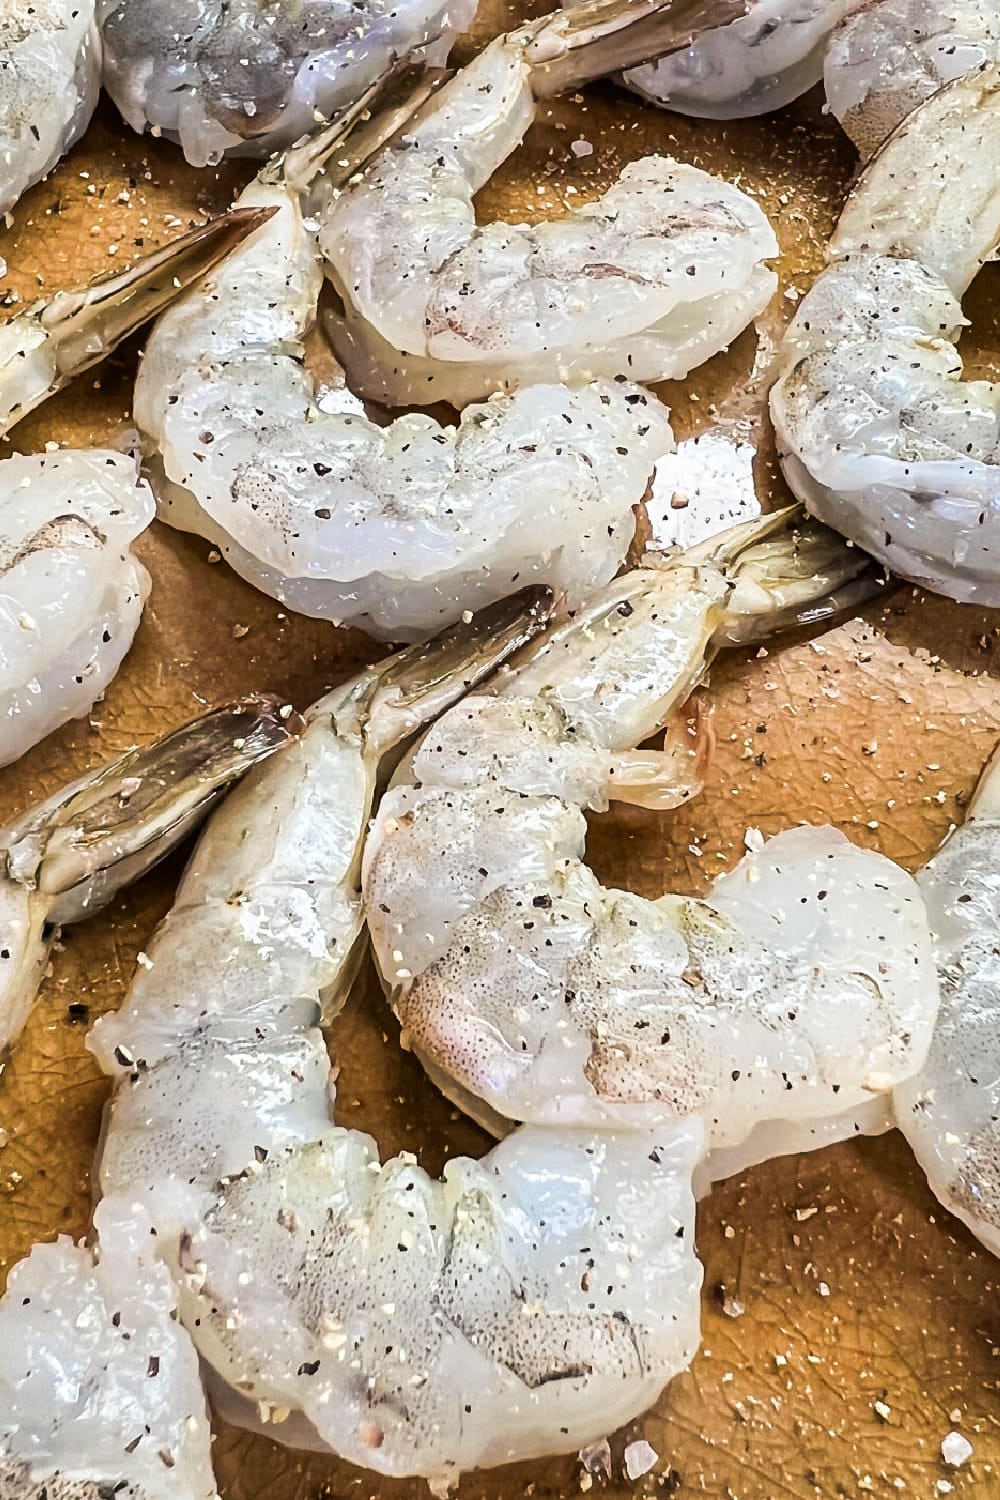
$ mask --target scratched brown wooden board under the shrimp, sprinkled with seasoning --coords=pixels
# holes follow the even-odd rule
[[[514,18],[487,0],[477,34]],[[574,141],[592,144],[592,153],[577,154]],[[781,242],[774,318],[787,315],[820,264],[855,166],[819,96],[729,126],[660,114],[610,84],[559,100],[483,194],[483,214],[544,218],[573,201],[570,188],[595,195],[624,162],[649,152],[718,171],[759,196]],[[103,102],[81,146],[22,200],[12,226],[0,228],[7,300],[130,262],[223,208],[247,171],[195,171],[171,146],[130,135]],[[967,310],[969,366],[996,380],[1000,268],[982,273]],[[138,346],[25,422],[4,452],[118,440],[129,426]],[[753,354],[748,333],[684,388],[663,388],[679,435],[732,402]],[[766,434],[757,480],[766,502],[783,498]],[[303,706],[378,654],[357,633],[282,610],[213,566],[208,550],[159,525],[142,538],[153,596],[123,670],[88,718],[0,772],[0,822],[205,702],[273,688]],[[772,834],[810,820],[832,822],[918,868],[961,816],[1000,735],[997,652],[1000,614],[903,588],[820,638],[729,654],[706,694],[717,752],[705,795],[663,816],[613,810],[595,819],[594,864],[643,894],[702,891],[739,858],[748,826]],[[84,1047],[87,1022],[70,1018],[69,1006],[82,1004],[94,1018],[120,1002],[180,864],[169,861],[109,912],[66,933],[0,1076],[0,1280],[33,1240],[87,1232],[106,1083]],[[385,1152],[405,1146],[438,1170],[451,1154],[486,1148],[399,1050],[370,975],[330,1047],[340,1066],[340,1120],[373,1131]],[[1000,1496],[997,1263],[936,1204],[900,1136],[777,1161],[718,1186],[699,1209],[699,1251],[702,1352],[651,1413],[613,1436],[613,1474],[595,1478],[595,1491],[936,1500],[952,1485],[957,1496]],[[954,1426],[975,1449],[958,1473],[940,1458]],[[631,1485],[621,1454],[636,1436],[660,1456]],[[418,1482],[382,1480],[223,1425],[216,1466],[225,1500],[424,1492]],[[564,1500],[589,1478],[567,1456],[472,1474],[459,1496]]]

